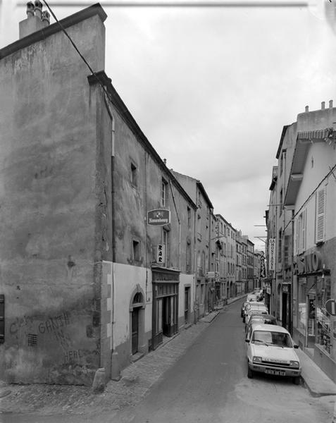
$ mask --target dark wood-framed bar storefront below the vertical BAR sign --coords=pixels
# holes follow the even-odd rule
[[[152,343],[154,350],[163,336],[178,333],[178,289],[180,272],[161,267],[152,269],[153,312]]]

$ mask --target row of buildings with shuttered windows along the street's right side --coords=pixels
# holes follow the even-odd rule
[[[294,341],[336,382],[336,108],[282,129],[266,210],[266,299]]]

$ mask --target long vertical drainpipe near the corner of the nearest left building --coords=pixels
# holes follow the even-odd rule
[[[112,350],[112,356],[111,356],[111,379],[113,380],[120,380],[120,365],[119,365],[119,358],[118,353],[116,352],[116,345],[115,345],[115,266],[116,263],[116,229],[115,229],[115,184],[114,184],[114,160],[115,160],[115,122],[116,119],[113,116],[113,112],[110,106],[109,99],[106,94],[104,94],[104,101],[106,105],[106,109],[108,111],[108,115],[111,119],[111,214],[112,214],[112,234],[111,234],[111,242],[112,242],[112,310],[111,310],[111,324],[112,324],[112,340],[111,340],[111,350]]]

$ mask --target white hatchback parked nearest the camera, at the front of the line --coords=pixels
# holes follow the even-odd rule
[[[301,364],[290,333],[282,326],[253,324],[247,342],[247,377],[254,372],[292,377],[299,384]]]

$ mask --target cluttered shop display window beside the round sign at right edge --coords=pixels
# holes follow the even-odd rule
[[[330,354],[331,321],[325,302],[331,298],[330,278],[318,278],[316,298],[316,343]]]

